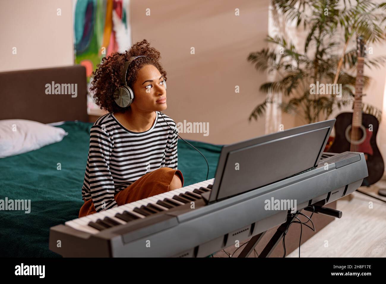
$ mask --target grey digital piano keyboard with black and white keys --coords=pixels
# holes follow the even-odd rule
[[[313,169],[212,204],[204,197],[215,179],[67,221],[50,229],[49,248],[63,257],[206,257],[286,221],[288,210],[264,201],[323,206],[365,177],[363,153],[323,153]]]

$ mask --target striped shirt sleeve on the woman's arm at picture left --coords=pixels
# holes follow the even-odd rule
[[[117,207],[114,199],[114,181],[110,172],[112,143],[109,135],[99,125],[90,130],[90,150],[88,152],[88,176],[91,198],[97,212]]]

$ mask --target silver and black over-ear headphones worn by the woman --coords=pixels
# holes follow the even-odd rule
[[[133,90],[127,85],[126,77],[127,77],[127,70],[129,70],[129,65],[132,63],[135,59],[138,57],[149,57],[146,55],[140,55],[140,56],[132,56],[130,57],[129,61],[125,62],[125,66],[122,70],[122,77],[120,79],[121,86],[118,87],[114,92],[114,99],[117,105],[120,107],[128,107],[132,104],[134,100],[134,92]],[[149,57],[150,58],[150,57]],[[158,66],[158,65],[157,65]],[[164,80],[164,86],[166,89],[166,82]]]

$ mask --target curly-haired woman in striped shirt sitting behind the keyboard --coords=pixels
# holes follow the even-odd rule
[[[144,39],[102,58],[93,72],[95,103],[109,113],[91,127],[79,217],[183,187],[176,123],[161,113],[167,107],[166,71],[159,58]],[[134,92],[126,107],[117,92],[121,78]]]

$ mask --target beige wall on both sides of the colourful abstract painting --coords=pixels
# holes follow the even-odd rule
[[[62,15],[56,15],[61,8]],[[150,8],[151,15],[146,16]],[[240,15],[235,16],[235,9]],[[73,64],[72,3],[16,0],[3,3],[0,71]],[[248,122],[264,100],[266,75],[246,58],[268,32],[268,0],[131,1],[132,43],[147,39],[168,72],[168,109],[176,122],[209,122],[209,136],[185,139],[228,144],[264,134],[264,118]],[[17,47],[17,55],[12,47]],[[190,54],[190,48],[195,54]],[[235,93],[235,86],[240,93]]]

